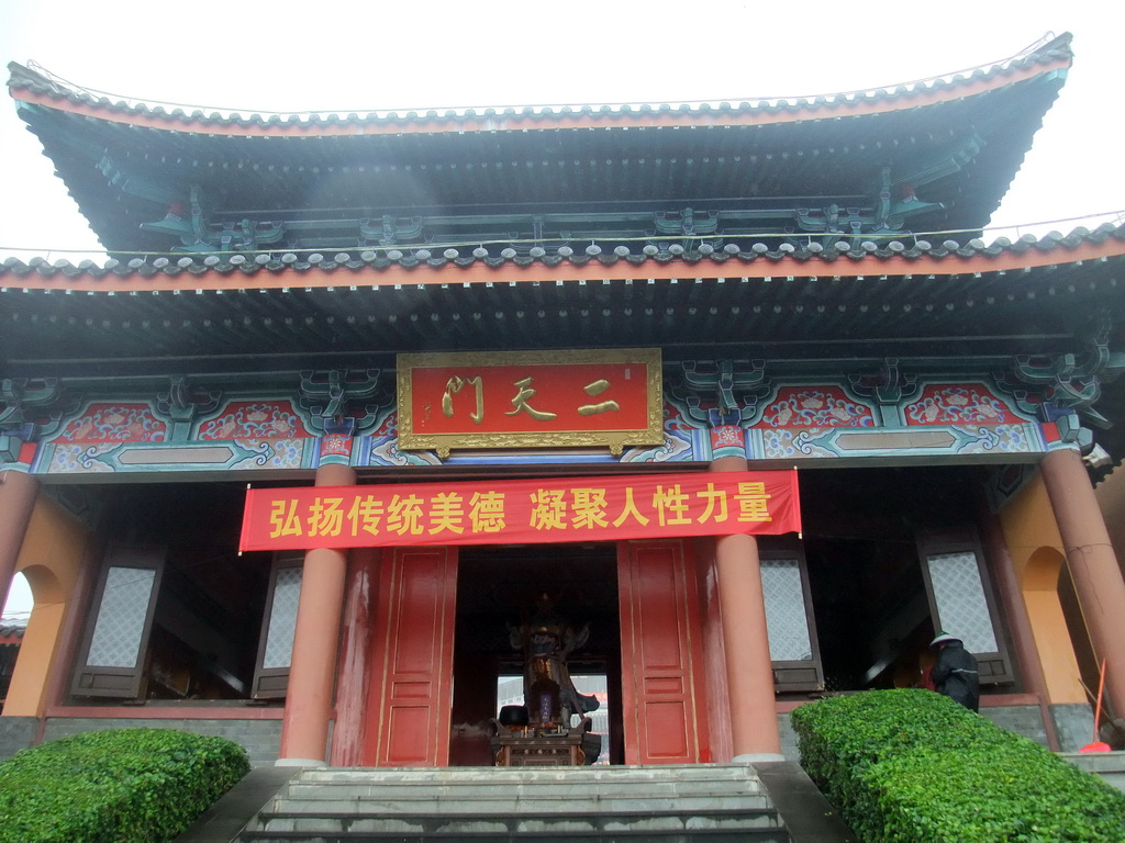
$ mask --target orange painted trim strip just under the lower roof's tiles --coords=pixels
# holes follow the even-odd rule
[[[1062,251],[1065,250],[1065,251]],[[1041,266],[1065,265],[1080,261],[1097,261],[1102,257],[1125,256],[1125,241],[1107,237],[1101,243],[1087,241],[1073,248],[1056,247],[1051,252],[1030,248],[1026,252],[1007,251],[998,256],[974,255],[972,257],[946,256],[934,257],[924,255],[908,259],[902,255],[892,257],[866,256],[860,261],[850,257],[838,257],[832,262],[811,259],[798,260],[782,257],[774,261],[758,257],[752,263],[741,263],[737,257],[724,263],[700,261],[669,261],[657,263],[647,261],[634,265],[624,261],[605,265],[600,261],[590,261],[584,265],[564,264],[547,266],[536,263],[531,266],[520,266],[506,263],[503,266],[488,266],[476,262],[471,266],[444,264],[442,266],[415,266],[408,269],[399,264],[376,269],[362,266],[358,270],[336,268],[325,270],[309,268],[297,273],[294,270],[272,272],[259,269],[246,275],[242,270],[222,273],[215,270],[198,275],[181,272],[178,275],[143,277],[136,273],[130,277],[119,275],[94,278],[91,275],[63,275],[56,279],[44,278],[38,273],[27,275],[0,274],[0,290],[71,290],[74,292],[180,292],[189,294],[196,290],[223,290],[235,292],[241,290],[281,290],[281,289],[325,289],[331,287],[414,287],[431,284],[522,284],[555,283],[556,281],[667,281],[672,279],[694,280],[726,279],[784,279],[784,278],[881,278],[883,275],[966,275],[988,272],[1011,272]]]

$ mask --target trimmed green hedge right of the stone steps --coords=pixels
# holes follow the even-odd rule
[[[1122,843],[1125,795],[932,691],[793,711],[801,763],[864,843]]]

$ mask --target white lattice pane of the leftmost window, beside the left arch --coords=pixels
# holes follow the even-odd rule
[[[136,667],[155,581],[156,572],[152,569],[109,569],[88,664],[94,668]]]

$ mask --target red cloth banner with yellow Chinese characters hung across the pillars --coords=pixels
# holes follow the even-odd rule
[[[243,551],[801,529],[795,471],[252,489]]]

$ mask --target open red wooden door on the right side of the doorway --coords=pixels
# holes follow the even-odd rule
[[[678,540],[623,542],[621,704],[627,764],[710,760],[695,578]]]

